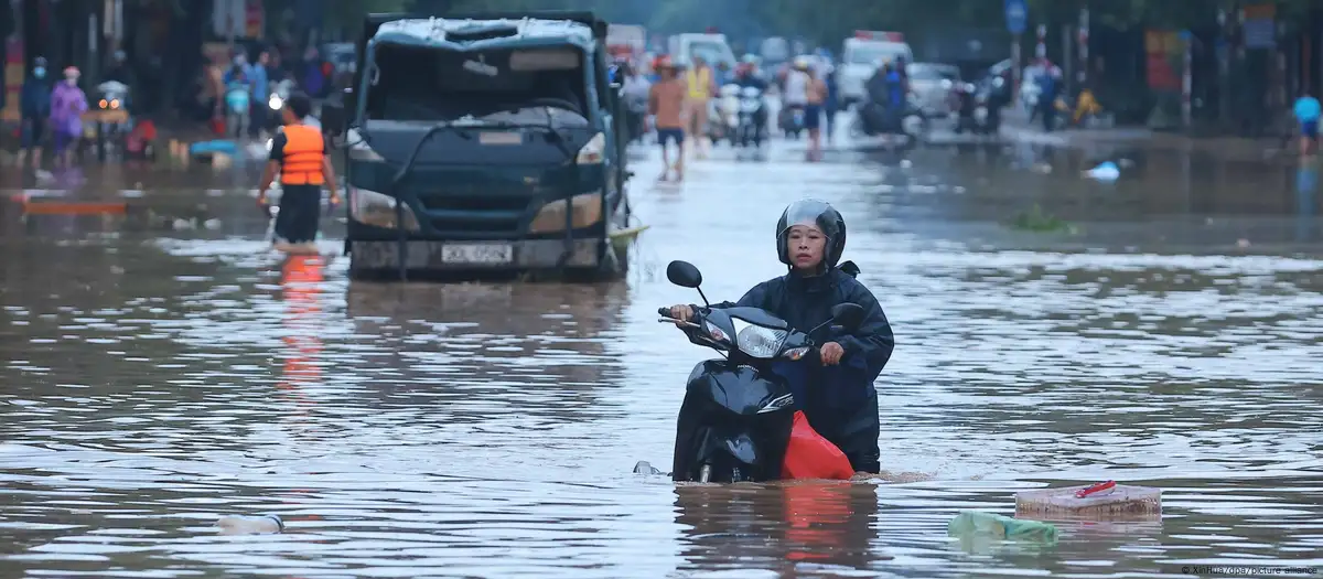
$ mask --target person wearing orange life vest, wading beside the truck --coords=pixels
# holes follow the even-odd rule
[[[275,174],[280,174],[280,212],[275,215],[278,247],[286,251],[315,252],[318,219],[321,214],[321,186],[331,189],[331,205],[340,205],[335,169],[325,155],[321,130],[303,124],[312,111],[312,100],[302,93],[291,94],[280,115],[284,126],[271,140],[271,157],[262,173],[257,202],[267,206],[266,192]]]

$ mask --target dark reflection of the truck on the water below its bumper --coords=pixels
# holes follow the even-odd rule
[[[447,403],[464,419],[617,412],[598,395],[622,377],[627,304],[619,283],[353,283],[347,295],[357,373],[396,403]]]

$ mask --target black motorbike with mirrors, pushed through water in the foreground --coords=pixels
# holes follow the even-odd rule
[[[688,262],[671,262],[667,279],[703,296],[703,274]],[[679,324],[689,341],[725,356],[700,362],[689,374],[671,477],[697,482],[781,479],[795,405],[790,385],[771,366],[799,361],[818,348],[808,337],[812,330],[799,332],[759,308],[713,308],[706,296],[703,301],[708,307],[689,321],[669,317],[669,308],[658,309],[659,321]],[[853,329],[863,317],[863,307],[840,304],[828,324]]]

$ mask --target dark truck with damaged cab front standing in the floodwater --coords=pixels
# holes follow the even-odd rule
[[[619,87],[591,13],[370,15],[345,143],[353,278],[624,272]]]

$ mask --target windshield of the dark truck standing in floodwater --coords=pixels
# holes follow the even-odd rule
[[[368,87],[368,120],[476,119],[583,126],[587,89],[577,50],[456,53],[380,45]]]

